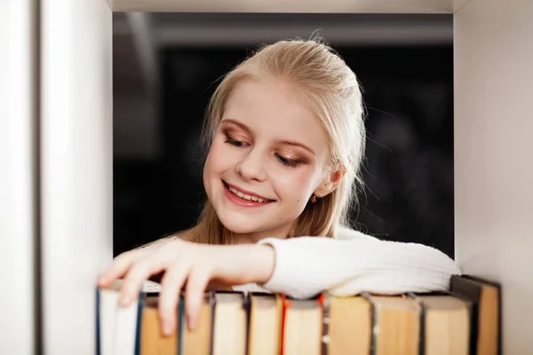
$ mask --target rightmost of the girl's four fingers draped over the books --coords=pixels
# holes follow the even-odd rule
[[[187,279],[185,294],[185,308],[187,314],[187,326],[194,329],[198,323],[198,312],[203,302],[203,294],[210,280],[210,273],[201,268],[193,269]]]

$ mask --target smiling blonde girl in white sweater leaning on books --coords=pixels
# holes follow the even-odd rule
[[[99,280],[106,287],[123,278],[128,305],[163,272],[165,333],[176,326],[184,285],[187,324],[195,327],[206,288],[395,294],[443,290],[459,274],[437,249],[347,227],[361,185],[362,95],[327,45],[282,41],[257,51],[220,83],[204,132],[207,201],[198,224],[117,256]]]

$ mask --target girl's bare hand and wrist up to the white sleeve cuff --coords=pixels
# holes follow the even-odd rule
[[[274,270],[274,249],[266,245],[205,245],[174,239],[117,256],[99,279],[100,287],[123,277],[120,304],[127,306],[139,295],[150,276],[164,272],[159,295],[163,332],[176,327],[179,291],[187,283],[185,305],[188,327],[194,328],[203,293],[211,280],[228,285],[265,283]]]

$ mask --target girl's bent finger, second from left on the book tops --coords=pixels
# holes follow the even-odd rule
[[[142,283],[152,274],[161,272],[164,268],[163,258],[149,257],[132,264],[123,279],[119,304],[126,307],[139,296]]]

